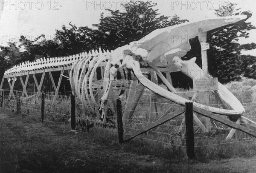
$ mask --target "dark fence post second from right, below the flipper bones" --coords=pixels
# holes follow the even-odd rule
[[[122,102],[120,99],[116,99],[116,112],[117,112],[117,133],[119,142],[124,142],[124,130],[122,124]]]

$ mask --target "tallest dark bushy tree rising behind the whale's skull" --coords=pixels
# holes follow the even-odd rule
[[[104,34],[105,39],[100,40],[101,46],[113,50],[134,40],[140,40],[155,29],[188,21],[180,20],[177,15],[172,18],[163,15],[157,17],[158,10],[153,9],[156,5],[157,3],[150,1],[130,1],[123,4],[125,12],[107,9],[111,15],[104,17],[102,14],[100,23],[93,25]]]

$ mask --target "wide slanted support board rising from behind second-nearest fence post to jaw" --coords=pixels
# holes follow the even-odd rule
[[[126,124],[128,122],[128,119],[130,117],[131,114],[131,110],[132,110],[132,105],[133,105],[133,99],[134,99],[134,95],[136,92],[136,86],[137,86],[137,78],[134,77],[134,79],[131,81],[131,85],[129,88],[129,93],[128,93],[128,97],[126,99],[126,103],[125,103],[125,111],[123,113],[123,124]]]

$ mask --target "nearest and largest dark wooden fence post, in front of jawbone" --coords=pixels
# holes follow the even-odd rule
[[[186,124],[186,153],[189,159],[195,158],[194,128],[193,128],[193,103],[185,103]]]

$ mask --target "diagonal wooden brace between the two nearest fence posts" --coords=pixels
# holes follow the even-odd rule
[[[149,131],[153,128],[156,128],[157,126],[162,125],[162,124],[168,122],[169,120],[174,119],[175,117],[177,117],[185,112],[184,109],[180,110],[177,108],[172,114],[169,114],[169,112],[171,110],[172,110],[172,108],[170,108],[168,111],[166,111],[166,113],[164,113],[162,118],[158,119],[156,122],[149,123],[147,126],[145,126],[143,129],[139,130],[137,133],[133,134],[131,138],[126,139],[124,142],[129,141],[143,133],[146,133],[147,131]]]

